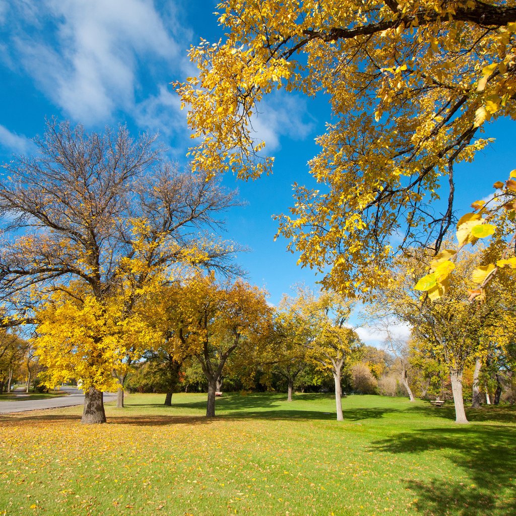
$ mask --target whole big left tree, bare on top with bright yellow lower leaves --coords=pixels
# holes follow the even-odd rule
[[[4,165],[1,291],[11,319],[38,322],[49,381],[82,378],[83,423],[102,423],[102,391],[149,335],[142,294],[180,263],[233,267],[234,249],[211,230],[235,196],[179,172],[154,137],[125,127],[88,134],[51,121],[36,145],[34,157]]]

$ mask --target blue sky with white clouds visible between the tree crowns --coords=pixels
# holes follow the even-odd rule
[[[55,116],[88,130],[127,123],[135,133],[159,132],[170,157],[185,165],[186,112],[170,83],[195,74],[190,44],[223,36],[215,7],[207,0],[0,0],[0,160],[30,152],[30,138],[43,132],[45,117]],[[317,152],[314,137],[324,131],[328,112],[320,99],[267,99],[254,126],[276,157],[273,175],[249,183],[224,178],[247,201],[228,214],[225,236],[250,248],[240,262],[274,304],[291,285],[315,279],[296,266],[285,240],[273,241],[277,224],[271,216],[287,211],[294,181],[310,183],[307,162]],[[512,124],[488,129],[496,142],[474,164],[456,170],[461,211],[516,168]]]

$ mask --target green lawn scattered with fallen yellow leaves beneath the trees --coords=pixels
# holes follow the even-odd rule
[[[379,396],[132,395],[106,406],[0,417],[0,515],[516,513],[516,411]]]

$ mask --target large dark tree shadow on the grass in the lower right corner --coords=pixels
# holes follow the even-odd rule
[[[424,514],[516,514],[516,429],[501,426],[434,428],[400,433],[373,443],[373,451],[426,454],[439,450],[464,478],[406,479]],[[422,460],[425,460],[422,457]]]

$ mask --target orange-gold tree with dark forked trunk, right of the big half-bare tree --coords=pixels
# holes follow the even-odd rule
[[[206,416],[215,416],[215,392],[230,355],[253,353],[269,327],[264,293],[244,281],[216,281],[214,275],[185,280],[181,302],[170,319],[176,352],[195,356],[208,382]]]

